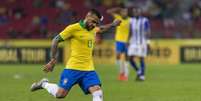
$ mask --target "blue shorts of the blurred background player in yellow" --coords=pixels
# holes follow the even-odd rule
[[[116,52],[117,53],[127,53],[127,45],[125,42],[116,41]]]

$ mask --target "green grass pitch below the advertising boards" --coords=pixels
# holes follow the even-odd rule
[[[57,83],[63,65],[44,74],[42,65],[0,65],[0,101],[91,101],[78,86],[57,100],[45,90],[30,92],[30,85],[43,77]],[[201,101],[201,65],[149,65],[145,82],[135,81],[132,69],[128,82],[120,82],[114,65],[97,65],[104,101]]]

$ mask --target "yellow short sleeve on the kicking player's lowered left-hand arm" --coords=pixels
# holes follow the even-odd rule
[[[69,25],[59,35],[63,40],[66,40],[72,36],[73,31],[74,27],[72,25]]]

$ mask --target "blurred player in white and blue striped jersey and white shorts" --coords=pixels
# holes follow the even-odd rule
[[[151,33],[150,22],[148,18],[141,15],[140,8],[133,8],[134,16],[130,21],[130,39],[128,47],[129,61],[132,67],[137,71],[136,80],[145,80],[145,60],[147,56],[148,37]],[[136,64],[136,58],[139,58],[140,68]]]

